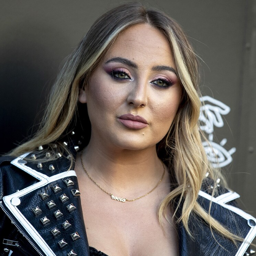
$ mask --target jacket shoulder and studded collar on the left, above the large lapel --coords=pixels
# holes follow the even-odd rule
[[[36,151],[18,157],[1,156],[0,199],[31,185],[31,182],[35,183],[74,168],[72,159],[75,159],[79,149],[75,146],[76,142],[76,138],[66,138],[65,141],[57,142],[58,144],[40,146]],[[56,145],[56,148],[53,145]],[[65,148],[59,151],[61,146]]]

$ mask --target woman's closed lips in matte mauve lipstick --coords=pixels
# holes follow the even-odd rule
[[[140,115],[125,114],[119,116],[119,121],[127,128],[139,130],[148,125],[147,120]]]

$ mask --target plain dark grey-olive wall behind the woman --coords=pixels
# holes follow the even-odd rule
[[[119,3],[0,0],[1,153],[35,131],[63,59],[93,21]],[[230,187],[241,194],[241,207],[255,216],[256,1],[149,0],[145,4],[164,10],[181,24],[203,60],[203,95],[230,107],[221,116],[223,126],[214,126],[215,136],[209,136],[226,151],[236,148],[223,172]]]

